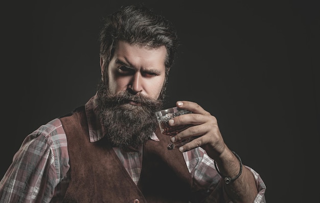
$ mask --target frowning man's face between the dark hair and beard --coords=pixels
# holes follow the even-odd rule
[[[107,67],[108,88],[111,94],[129,91],[157,99],[165,81],[164,46],[149,49],[136,44],[119,41]],[[101,60],[101,71],[104,61]],[[132,105],[140,105],[130,101]]]

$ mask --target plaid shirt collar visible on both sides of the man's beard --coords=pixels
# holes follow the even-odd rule
[[[89,129],[89,140],[90,142],[97,142],[104,137],[103,127],[100,123],[98,117],[97,110],[97,94],[89,99],[89,101],[85,104],[85,113],[88,122]],[[150,139],[154,141],[159,141],[156,134],[153,132],[150,135]]]

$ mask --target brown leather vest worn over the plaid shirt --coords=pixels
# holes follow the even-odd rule
[[[66,133],[71,182],[64,202],[188,202],[192,178],[182,153],[167,150],[169,137],[157,129],[159,142],[143,145],[138,186],[107,139],[89,142],[84,107],[60,118]],[[136,201],[135,199],[139,199]]]

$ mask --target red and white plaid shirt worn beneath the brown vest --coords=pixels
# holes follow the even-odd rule
[[[103,138],[95,108],[93,97],[85,104],[90,142]],[[155,134],[152,134],[150,139],[158,141]],[[142,147],[139,152],[113,149],[133,182],[138,184],[142,168]],[[222,190],[222,184],[219,184],[221,177],[214,167],[213,160],[202,148],[183,152],[183,155],[193,184],[206,191],[203,193],[204,196],[213,190]],[[259,192],[254,202],[265,202],[265,184],[256,171],[247,168],[254,174]],[[70,182],[69,169],[65,132],[60,120],[54,119],[29,134],[14,155],[12,164],[0,182],[0,202],[62,202]],[[231,202],[225,193],[223,198],[226,202]]]

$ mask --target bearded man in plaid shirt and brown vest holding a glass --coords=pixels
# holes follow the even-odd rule
[[[97,94],[40,126],[22,143],[0,183],[1,202],[265,202],[259,174],[225,145],[217,120],[197,103],[170,125],[194,124],[167,150],[162,109],[178,38],[143,6],[109,15],[100,34]]]

